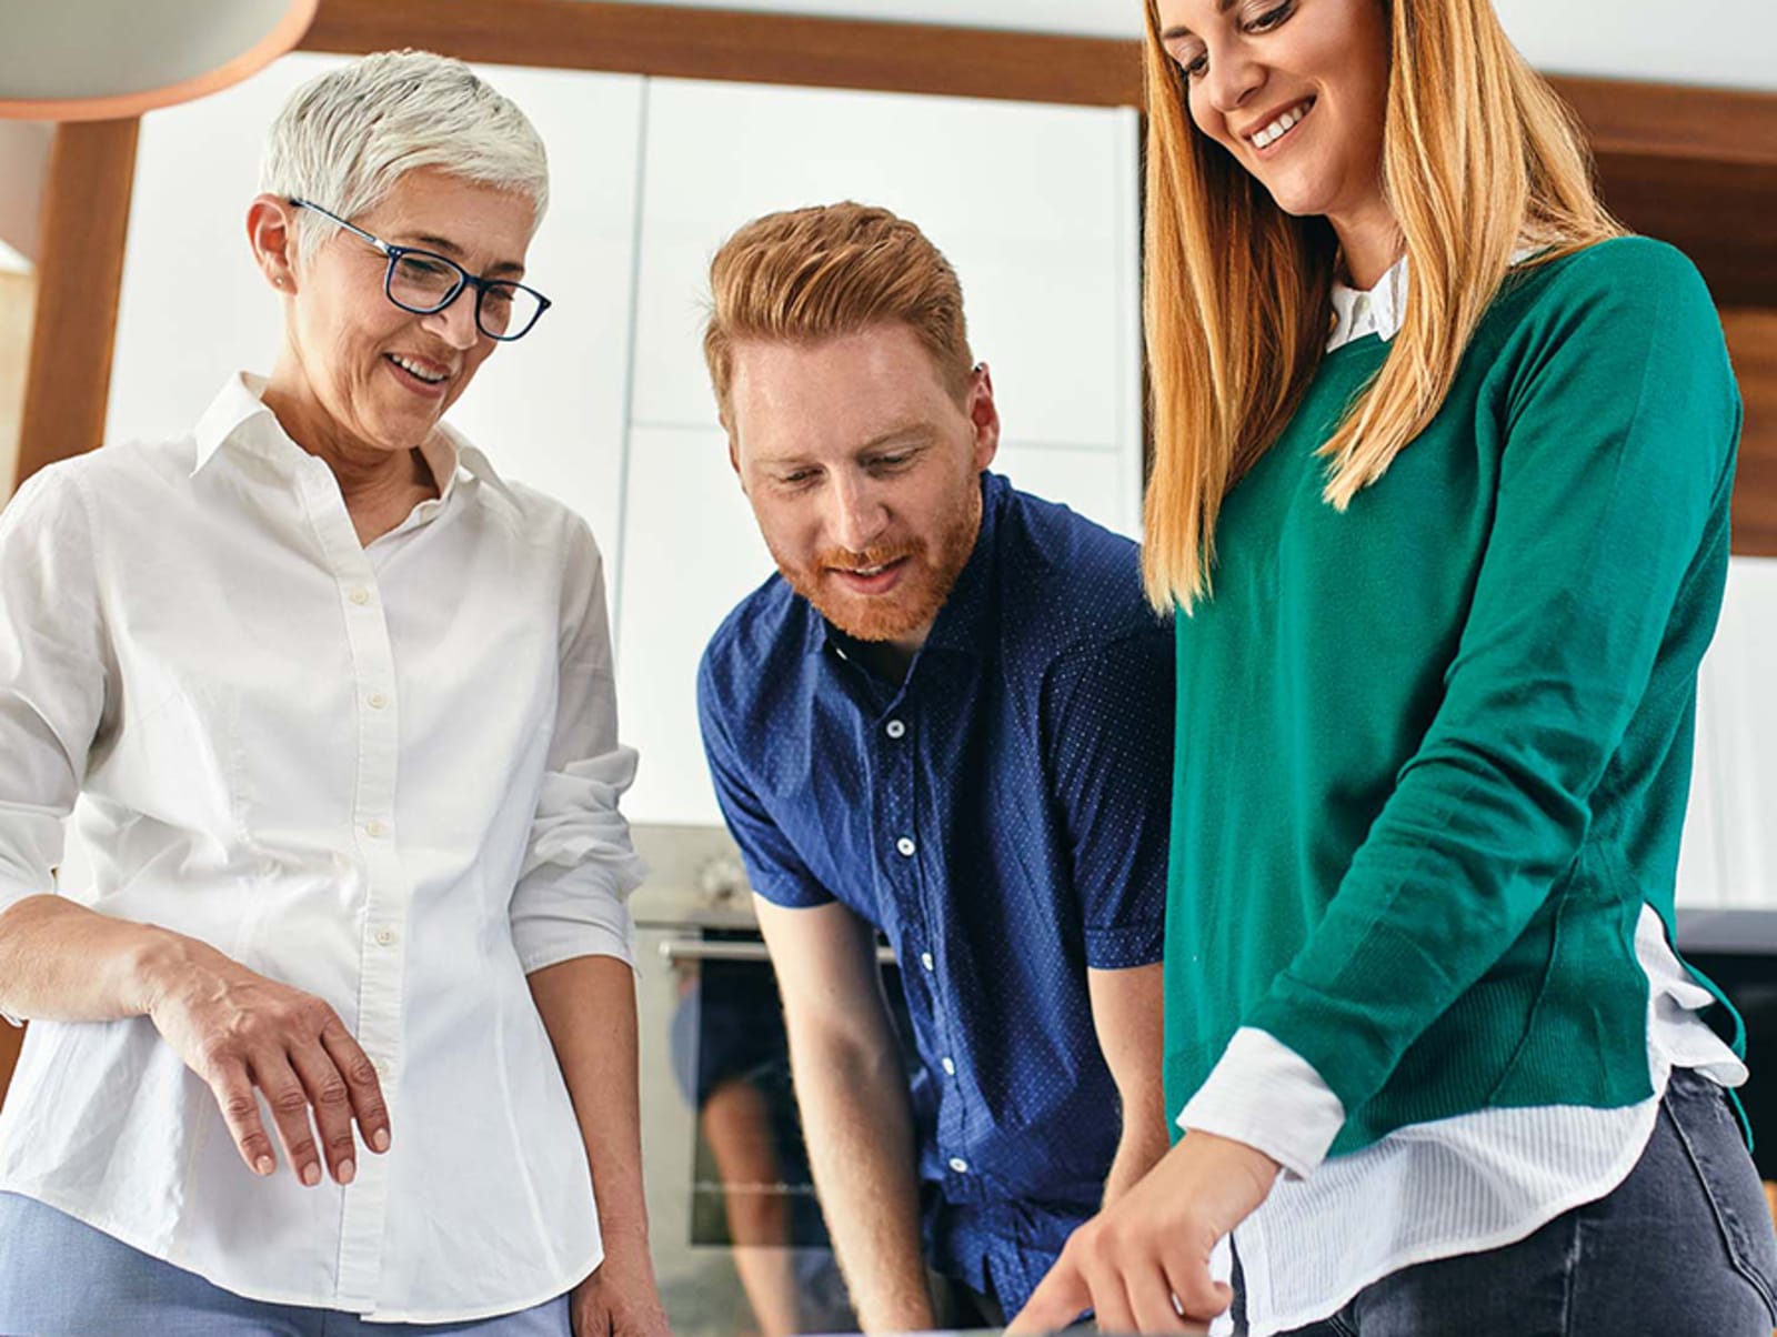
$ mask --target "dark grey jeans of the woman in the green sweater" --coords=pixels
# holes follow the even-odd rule
[[[1404,1268],[1290,1337],[1770,1337],[1773,1326],[1777,1232],[1740,1122],[1720,1086],[1677,1070],[1615,1191],[1516,1245]]]

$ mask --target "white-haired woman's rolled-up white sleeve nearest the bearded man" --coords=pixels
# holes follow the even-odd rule
[[[562,681],[549,770],[512,894],[512,941],[526,973],[574,957],[634,964],[629,893],[645,868],[618,800],[636,752],[617,741],[617,679],[604,558],[574,519],[562,580]]]

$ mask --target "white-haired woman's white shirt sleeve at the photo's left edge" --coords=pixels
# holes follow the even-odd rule
[[[105,717],[94,532],[59,469],[37,473],[0,514],[0,914],[55,893]]]

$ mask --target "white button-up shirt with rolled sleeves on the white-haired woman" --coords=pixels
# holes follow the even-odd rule
[[[254,1300],[519,1310],[602,1257],[526,985],[631,958],[599,549],[448,428],[423,450],[441,496],[364,548],[261,389],[52,466],[0,516],[0,910],[59,891],[320,996],[393,1147],[350,1188],[258,1179],[146,1017],[37,1022],[0,1189]],[[57,887],[76,795],[94,877]]]

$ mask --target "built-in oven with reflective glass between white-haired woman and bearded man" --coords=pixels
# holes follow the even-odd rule
[[[789,1079],[777,978],[727,830],[640,825],[641,1154],[679,1337],[855,1330]],[[899,987],[892,989],[899,997]]]

